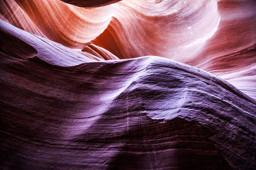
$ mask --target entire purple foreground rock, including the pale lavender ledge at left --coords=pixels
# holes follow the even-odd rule
[[[256,166],[256,101],[226,81],[153,56],[63,64],[75,50],[0,24],[24,42],[0,52],[1,168]]]

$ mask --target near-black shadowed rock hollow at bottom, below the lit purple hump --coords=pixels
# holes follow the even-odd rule
[[[127,143],[108,169],[231,169],[198,125],[182,118],[143,120],[122,136]]]

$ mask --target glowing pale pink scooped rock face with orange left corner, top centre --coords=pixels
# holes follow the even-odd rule
[[[157,55],[184,61],[200,50],[219,22],[215,0],[125,0],[115,5],[113,20],[93,43],[122,59]]]

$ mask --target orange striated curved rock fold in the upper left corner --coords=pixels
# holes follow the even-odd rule
[[[72,48],[84,48],[108,26],[111,6],[79,8],[60,0],[3,0],[1,19]]]

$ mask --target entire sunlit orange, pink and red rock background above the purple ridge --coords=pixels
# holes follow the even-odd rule
[[[3,0],[0,18],[103,60],[178,60],[256,97],[255,0]]]

